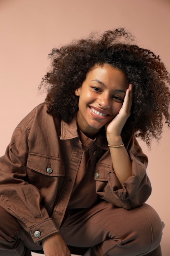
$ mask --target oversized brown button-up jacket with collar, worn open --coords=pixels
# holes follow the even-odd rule
[[[151,185],[148,159],[136,139],[132,136],[124,143],[132,160],[132,176],[123,187],[114,173],[106,139],[94,144],[94,150],[106,150],[95,164],[94,179],[100,198],[129,210],[148,199]],[[65,123],[47,114],[42,103],[15,128],[0,157],[0,205],[30,232],[35,243],[59,230],[82,152],[76,119]]]

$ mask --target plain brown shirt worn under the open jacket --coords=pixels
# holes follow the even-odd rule
[[[82,142],[82,159],[79,165],[79,170],[75,178],[75,184],[71,193],[67,208],[89,208],[98,198],[95,192],[95,165],[106,150],[100,148],[96,151],[95,143],[100,141],[101,135],[97,138],[90,139],[84,135],[81,130],[78,130],[80,141]],[[92,165],[93,164],[93,165]]]

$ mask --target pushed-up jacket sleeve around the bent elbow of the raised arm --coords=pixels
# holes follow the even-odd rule
[[[146,202],[151,194],[151,184],[146,174],[148,158],[134,137],[131,138],[127,151],[132,161],[132,176],[121,186],[110,163],[109,171],[106,171],[108,182],[103,192],[99,192],[99,188],[98,192],[107,202],[129,210]]]

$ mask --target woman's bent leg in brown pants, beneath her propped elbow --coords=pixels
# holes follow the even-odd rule
[[[162,228],[148,204],[127,211],[103,201],[69,216],[60,234],[67,245],[92,247],[91,256],[137,256],[159,246]]]

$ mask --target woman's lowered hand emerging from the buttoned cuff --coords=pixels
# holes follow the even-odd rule
[[[71,252],[59,232],[44,238],[42,247],[45,256],[71,256]]]

